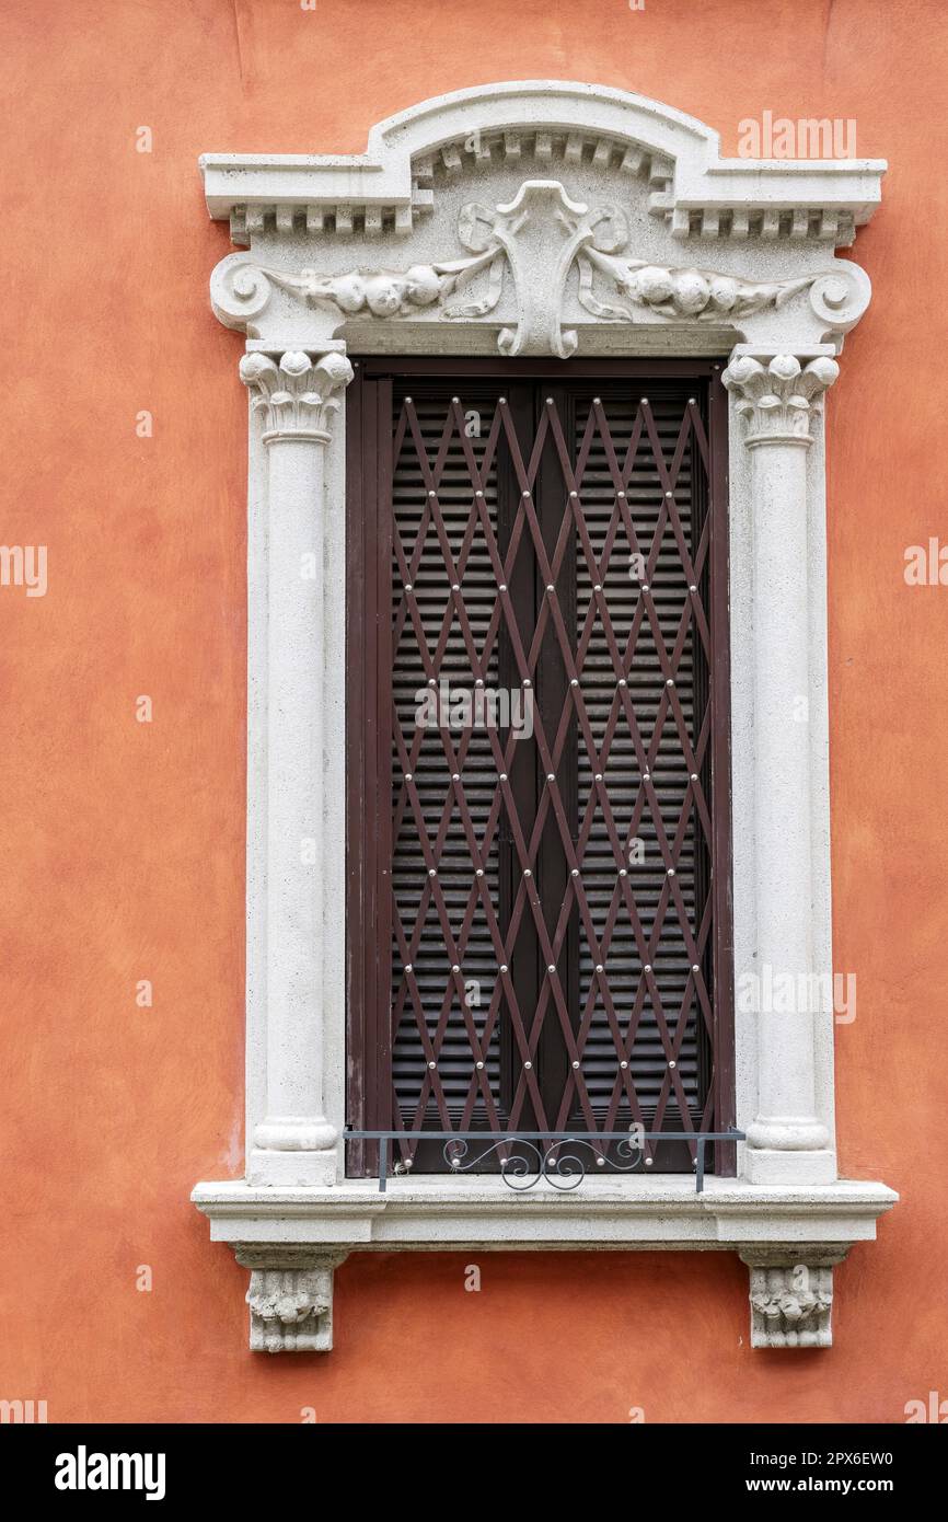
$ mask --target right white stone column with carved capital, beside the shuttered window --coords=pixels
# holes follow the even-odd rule
[[[835,1178],[817,1117],[814,1021],[831,970],[814,966],[806,452],[834,359],[732,358],[724,385],[746,423],[753,498],[753,773],[758,1106],[753,1183]],[[829,977],[831,986],[831,977]],[[746,989],[738,976],[738,997]]]

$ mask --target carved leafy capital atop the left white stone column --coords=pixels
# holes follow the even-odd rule
[[[263,443],[277,438],[312,438],[327,443],[341,393],[353,377],[345,355],[310,359],[289,350],[275,364],[266,355],[243,355],[240,379],[250,388],[253,408],[263,414]]]

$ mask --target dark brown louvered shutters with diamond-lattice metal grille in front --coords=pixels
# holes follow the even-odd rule
[[[353,388],[353,1125],[729,1123],[709,403],[706,377],[577,368]],[[533,702],[533,735],[472,723],[478,693]]]

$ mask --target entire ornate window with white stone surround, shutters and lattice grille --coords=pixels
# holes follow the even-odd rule
[[[333,1269],[348,1251],[473,1242],[531,1250],[730,1248],[750,1266],[755,1345],[826,1345],[832,1265],[854,1242],[872,1237],[875,1219],[895,1202],[883,1184],[837,1175],[832,1000],[811,997],[831,988],[832,973],[823,396],[837,379],[845,333],[870,294],[858,265],[835,259],[834,248],[851,244],[855,227],[870,216],[884,164],[727,161],[714,132],[654,102],[589,85],[528,82],[461,91],[393,117],[373,129],[367,154],[358,158],[207,157],[202,169],[212,216],[230,218],[234,240],[248,245],[212,277],[215,312],[247,335],[240,376],[251,402],[248,1163],[245,1180],[199,1184],[193,1198],[210,1218],[212,1234],[230,1242],[251,1269],[251,1347],[330,1347]],[[447,399],[443,377],[425,379],[438,368],[437,356],[450,359],[464,382],[458,379]],[[482,367],[479,379],[473,361]],[[409,390],[400,377],[412,367]],[[353,387],[356,368],[361,377]],[[642,403],[648,393],[628,385],[644,373],[651,376],[654,412]],[[694,385],[685,397],[682,376]],[[495,385],[499,377],[502,393]],[[549,391],[537,391],[545,380]],[[493,428],[502,431],[504,444],[491,484],[484,455],[473,443],[466,452],[460,440],[467,435],[458,432],[452,495],[447,482],[441,492],[444,469],[434,434],[449,422],[455,394],[457,405],[464,409],[473,399],[467,411],[487,419],[482,440]],[[513,428],[498,422],[501,394],[517,414]],[[724,396],[727,454],[723,428],[712,447],[712,408],[723,409]],[[650,435],[648,464],[638,455],[628,460],[636,426],[639,437],[642,429]],[[540,443],[531,475],[530,449],[542,429],[554,444]],[[414,463],[400,447],[409,435]],[[677,440],[685,441],[680,458]],[[622,552],[636,552],[636,513],[625,516],[621,504],[628,505],[628,496],[619,496],[641,484],[636,470],[650,476],[639,513],[659,476],[662,496],[648,511],[668,504],[668,552],[674,540],[677,565],[673,575],[659,554],[647,565],[650,592],[639,583],[630,600],[630,583],[619,589],[612,580],[607,540],[613,524],[613,540],[627,540]],[[470,501],[466,510],[457,505],[461,476],[467,498],[473,489],[475,501],[485,504],[473,516]],[[484,499],[476,499],[478,490]],[[412,546],[412,525],[420,525],[418,511],[429,501],[437,562],[431,554],[425,560],[417,539]],[[711,545],[715,522],[726,557],[715,560],[708,549],[701,559],[703,534],[708,530]],[[461,569],[466,527],[478,524],[481,537]],[[510,552],[517,533],[530,536],[522,559]],[[478,575],[484,578],[487,568],[493,580],[488,586],[481,580],[478,601]],[[422,735],[417,778],[418,763],[405,732],[399,744],[397,724],[379,743],[359,740],[368,734],[365,715],[379,712],[379,671],[396,673],[396,715],[415,691],[403,691],[400,680],[411,683],[425,673],[425,685],[434,677],[438,691],[431,658],[438,644],[437,636],[431,644],[431,633],[441,627],[449,598],[450,627],[461,633],[467,659],[464,673],[452,668],[460,647],[449,632],[438,656],[449,674],[487,686],[487,668],[478,667],[479,626],[487,636],[496,613],[498,689],[501,670],[520,703],[525,682],[540,683],[534,714],[540,729],[516,770],[513,752],[504,759],[510,734],[502,726],[478,740],[484,785],[473,785],[453,752],[457,767],[446,781],[457,817],[470,799],[473,823],[476,799],[487,825],[498,802],[493,857],[476,845],[484,839],[479,825],[463,845],[453,842],[453,858],[446,846],[455,868],[467,851],[464,866],[473,880],[464,886],[450,883],[450,874],[438,881],[441,861],[431,855],[434,782],[425,766],[452,753],[450,726],[435,724],[431,740],[438,738],[428,752]],[[610,644],[607,629],[631,635],[635,618],[642,622],[648,613],[647,600],[654,612],[651,654],[628,641],[622,647],[619,636]],[[596,616],[586,639],[593,601]],[[373,613],[362,621],[364,638],[361,612]],[[666,638],[676,612],[686,613],[688,656],[685,645],[677,650]],[[393,629],[402,641],[397,667],[385,651]],[[727,630],[717,645],[715,630]],[[657,682],[648,689],[659,673],[673,683],[665,696]],[[650,752],[636,723],[636,697],[628,685],[619,688],[639,679],[642,714],[663,702],[676,720],[674,759],[670,750],[662,755],[660,743]],[[724,696],[715,699],[720,680]],[[701,750],[701,726],[715,702],[715,723],[706,731],[714,738]],[[606,743],[607,728],[596,731],[589,715],[607,726],[610,708],[616,726]],[[402,767],[394,794],[393,734]],[[476,758],[472,735],[470,769],[476,770]],[[619,866],[619,855],[628,857],[641,839],[631,828],[633,793],[648,804],[654,833],[644,837],[641,872],[641,863]],[[592,831],[583,834],[584,805],[593,794],[595,839]],[[399,854],[400,836],[391,834],[393,798],[396,811],[414,811],[417,836],[408,854]],[[666,816],[685,820],[677,854]],[[555,828],[548,828],[551,817]],[[621,819],[621,831],[604,823],[610,817]],[[359,863],[370,845],[367,819],[377,822],[382,840],[391,836],[387,860],[396,907],[428,892],[444,910],[441,953],[453,939],[457,956],[443,986],[428,977],[425,994],[423,956],[414,985],[409,971],[415,947],[425,951],[425,921],[418,930],[417,915],[402,916],[399,930],[379,910],[377,875],[356,874],[347,890],[347,845],[350,866]],[[730,871],[726,851],[721,855],[726,842]],[[555,890],[569,906],[560,916],[549,904],[534,913],[534,860],[542,861],[542,890]],[[414,881],[420,861],[435,872],[431,890]],[[683,881],[676,875],[665,883],[676,906],[679,951],[692,956],[676,962],[671,942],[663,944],[663,976],[685,977],[671,1021],[673,983],[663,991],[657,974],[645,974],[648,936],[636,942],[636,916],[641,930],[648,913],[653,928],[659,915],[659,900],[648,890],[648,869],[659,861],[666,877],[686,864]],[[606,869],[615,869],[609,884]],[[660,895],[662,886],[656,887]],[[464,1001],[469,970],[450,928],[458,913],[464,921],[467,898],[458,903],[458,893],[481,906],[479,944],[484,950],[490,942],[493,957],[490,965],[481,957],[484,980],[493,976],[493,983],[478,1018]],[[600,971],[596,947],[603,950],[613,906],[613,960],[603,954]],[[545,918],[548,912],[552,918]],[[367,945],[373,924],[380,950],[374,957]],[[511,925],[523,925],[522,942]],[[393,939],[402,959],[396,983]],[[466,951],[473,944],[467,936]],[[501,974],[501,966],[508,971]],[[507,980],[499,994],[498,977]],[[638,1050],[628,1040],[631,1024],[619,1018],[613,979],[633,1009],[636,1001],[642,1006]],[[775,986],[790,988],[790,1001],[775,998]],[[399,1011],[406,1001],[412,1020],[402,1030],[390,1012],[393,1003]],[[525,1015],[517,1020],[522,1005]],[[491,1008],[493,1052],[493,1035],[484,1035]],[[548,1021],[548,1008],[555,1020]],[[370,1043],[367,1029],[374,1032]],[[642,1103],[648,1030],[659,1064],[651,1106]],[[444,1041],[449,1033],[458,1038],[453,1056]],[[501,1111],[508,1129],[511,1120],[523,1126],[525,1117],[551,1120],[549,1090],[542,1091],[533,1065],[526,1067],[534,1035],[543,1082],[558,1073],[552,1093],[563,1125],[531,1129],[563,1132],[581,1117],[584,1131],[601,1132],[610,1119],[627,1131],[657,1116],[659,1129],[697,1135],[715,1129],[714,1117],[727,1129],[736,1123],[736,1146],[718,1137],[700,1189],[691,1163],[701,1175],[703,1143],[689,1138],[673,1145],[688,1154],[685,1175],[668,1172],[663,1161],[656,1166],[657,1149],[647,1169],[651,1143],[645,1142],[641,1169],[593,1167],[581,1187],[565,1195],[549,1187],[555,1167],[537,1187],[517,1192],[502,1169],[450,1167],[457,1152],[447,1157],[447,1172],[432,1172],[417,1143],[403,1148],[387,1137],[379,1149],[394,1142],[396,1151],[379,1158],[373,1152],[379,1138],[344,1140],[347,1123],[358,1131],[415,1129],[359,1125],[403,1120],[409,1113],[452,1122],[443,1129],[476,1129],[453,1123],[475,1120],[472,1094],[481,1096],[485,1125],[488,1096],[491,1125]],[[705,1087],[701,1043],[705,1056],[711,1044],[714,1058]],[[732,1090],[720,1071],[730,1056]],[[379,1058],[380,1075],[371,1071]],[[422,1073],[420,1061],[434,1061],[435,1068]],[[622,1061],[635,1065],[622,1070]],[[622,1076],[628,1071],[631,1078]],[[379,1094],[393,1078],[399,1102],[388,1108],[390,1097],[382,1103]],[[673,1093],[677,1126],[668,1123]],[[593,1094],[607,1096],[598,1111]],[[371,1175],[391,1161],[412,1167],[385,1177],[380,1189]]]

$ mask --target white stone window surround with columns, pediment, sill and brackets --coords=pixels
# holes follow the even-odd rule
[[[247,253],[212,277],[247,335],[247,1175],[193,1190],[251,1269],[251,1348],[332,1347],[350,1251],[733,1250],[752,1341],[831,1341],[832,1265],[896,1195],[840,1180],[834,1012],[735,1011],[738,1177],[347,1180],[344,390],[364,353],[721,356],[735,988],[831,974],[822,397],[866,274],[834,257],[883,161],[723,160],[700,122],[528,81],[428,100],[364,155],[205,155]],[[555,254],[555,259],[554,259]],[[301,566],[307,566],[303,572]],[[764,977],[759,988],[764,988]],[[771,985],[773,986],[773,985]]]

